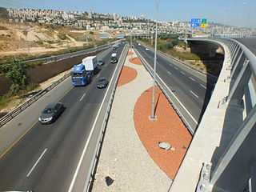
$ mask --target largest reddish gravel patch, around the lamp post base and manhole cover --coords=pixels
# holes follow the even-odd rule
[[[158,86],[155,98],[157,120],[149,119],[152,100],[152,88],[150,88],[135,104],[134,124],[150,157],[168,177],[174,179],[192,137]],[[169,142],[172,149],[162,150],[158,147],[158,142]]]

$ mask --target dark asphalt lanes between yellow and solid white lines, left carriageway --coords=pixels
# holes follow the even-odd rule
[[[120,47],[118,55],[121,51]],[[110,62],[112,52],[108,51],[103,57],[106,63]],[[99,76],[110,78],[115,67],[115,64],[100,66]],[[74,87],[63,98],[60,96],[66,110],[58,120],[46,126],[37,122],[0,159],[0,190],[66,191],[69,188],[82,146],[106,91],[98,90],[96,83],[97,78],[94,77],[89,86]],[[86,97],[82,98],[85,93]],[[38,161],[45,149],[47,151]],[[31,167],[34,169],[30,173]]]

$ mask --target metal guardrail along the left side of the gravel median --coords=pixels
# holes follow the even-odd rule
[[[129,50],[129,46],[125,46],[122,54],[127,55],[128,50]],[[120,56],[120,58],[122,58],[122,61],[120,60],[120,62],[122,64],[119,65],[119,68],[116,72],[117,73],[117,78],[114,81],[114,88],[111,91],[110,100],[107,104],[106,114],[104,116],[104,121],[102,122],[101,134],[99,134],[99,136],[98,136],[98,142],[97,142],[98,145],[95,147],[95,150],[94,150],[94,159],[90,163],[90,171],[89,171],[89,174],[87,175],[86,182],[85,182],[85,187],[84,187],[83,191],[90,191],[90,185],[91,185],[92,180],[94,179],[94,173],[93,172],[94,172],[94,169],[96,168],[96,164],[97,164],[98,157],[99,157],[99,152],[100,152],[100,149],[102,147],[102,140],[103,140],[104,135],[105,135],[106,125],[107,125],[108,118],[109,118],[109,115],[110,115],[111,106],[112,106],[112,103],[113,103],[113,100],[114,100],[114,93],[115,93],[115,90],[116,90],[116,87],[117,87],[117,84],[118,84],[118,78],[121,74],[122,66],[123,66],[124,62],[126,61],[126,57],[122,57],[122,54]]]

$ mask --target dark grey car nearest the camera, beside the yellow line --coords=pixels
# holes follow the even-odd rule
[[[38,121],[42,124],[48,124],[54,122],[64,110],[64,105],[62,102],[53,102],[50,103],[42,111],[42,114],[38,118]]]

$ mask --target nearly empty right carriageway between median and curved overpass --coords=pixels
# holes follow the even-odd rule
[[[134,46],[154,69],[154,50],[146,51],[145,46],[137,43]],[[159,53],[156,69],[158,76],[178,98],[176,102],[186,121],[196,130],[214,89],[214,80]]]

